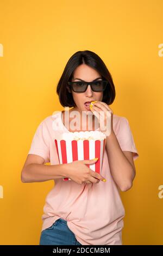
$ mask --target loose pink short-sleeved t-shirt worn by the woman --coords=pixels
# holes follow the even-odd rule
[[[42,156],[45,162],[59,164],[54,139],[57,132],[69,132],[61,119],[61,111],[45,118],[37,127],[28,154]],[[137,153],[127,118],[113,116],[113,129],[123,151]],[[68,228],[82,245],[122,245],[124,207],[117,185],[112,179],[106,149],[101,174],[106,182],[77,184],[69,180],[55,179],[55,185],[46,197],[43,208],[42,230],[56,220],[67,221]]]

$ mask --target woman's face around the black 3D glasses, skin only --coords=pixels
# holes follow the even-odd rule
[[[92,82],[97,78],[98,80],[102,80],[102,76],[99,75],[99,73],[95,69],[92,69],[86,64],[82,64],[78,66],[76,70],[74,70],[72,82],[77,82],[81,80],[86,82]],[[91,86],[89,85],[84,93],[75,93],[72,90],[72,96],[74,102],[76,103],[76,107],[74,107],[74,109],[79,112],[90,111],[88,108],[86,108],[84,103],[86,101],[102,101],[103,92],[93,92],[91,90]]]

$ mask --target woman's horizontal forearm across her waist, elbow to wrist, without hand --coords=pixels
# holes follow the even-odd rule
[[[22,182],[41,182],[47,180],[61,179],[66,177],[67,169],[65,164],[45,165],[30,163],[21,174]]]

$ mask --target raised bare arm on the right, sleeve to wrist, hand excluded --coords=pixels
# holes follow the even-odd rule
[[[114,132],[106,136],[106,151],[112,178],[121,191],[127,191],[133,185],[135,166],[133,153],[123,152]]]

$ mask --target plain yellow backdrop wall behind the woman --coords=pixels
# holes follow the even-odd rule
[[[81,50],[96,52],[111,72],[111,108],[129,120],[140,154],[134,185],[121,193],[123,244],[163,244],[162,9],[162,0],[1,0],[1,244],[39,244],[53,181],[23,184],[21,170],[37,126],[64,109],[56,86],[68,59]]]

